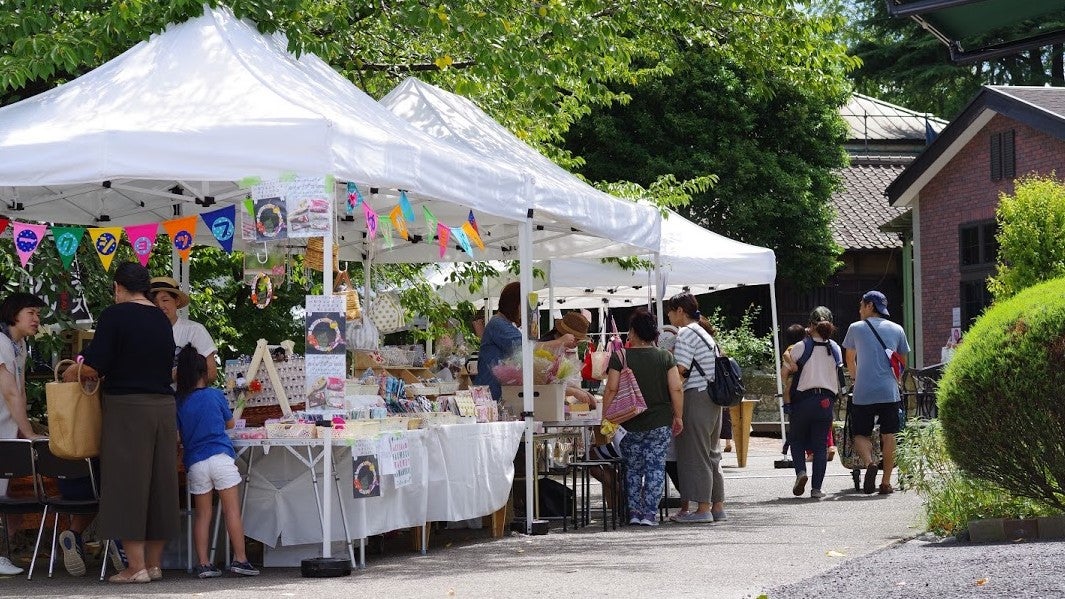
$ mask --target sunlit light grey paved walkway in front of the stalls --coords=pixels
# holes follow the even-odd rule
[[[344,579],[301,579],[297,570],[272,568],[258,579],[200,581],[167,571],[163,582],[129,588],[72,579],[61,568],[51,580],[39,573],[33,581],[0,579],[0,596],[756,597],[919,532],[915,496],[855,493],[838,463],[829,465],[828,498],[792,497],[793,474],[773,469],[779,449],[776,440],[752,439],[746,469],[726,454],[730,520],[722,523],[559,529],[495,540],[481,531],[449,531],[433,535],[426,556],[394,549]]]

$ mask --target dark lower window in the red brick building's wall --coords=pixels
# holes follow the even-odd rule
[[[998,227],[994,221],[966,223],[958,227],[962,328],[968,328],[992,304],[987,278],[995,272],[998,257],[996,233]]]

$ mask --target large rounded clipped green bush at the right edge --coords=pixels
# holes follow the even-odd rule
[[[947,367],[937,400],[958,467],[1065,509],[1065,278],[984,312]]]

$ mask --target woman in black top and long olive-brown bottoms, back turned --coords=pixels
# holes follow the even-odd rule
[[[100,536],[121,539],[129,562],[111,582],[162,578],[163,547],[179,530],[174,330],[146,296],[149,280],[141,264],[119,264],[115,304],[80,356],[81,377],[102,379]],[[63,379],[77,381],[77,366]]]

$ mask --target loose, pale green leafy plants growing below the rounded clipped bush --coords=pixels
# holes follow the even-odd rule
[[[1031,499],[969,475],[951,460],[938,420],[912,420],[900,433],[896,463],[906,488],[923,500],[928,530],[952,535],[981,518],[1026,518],[1053,513]]]

